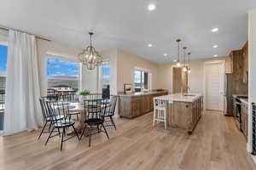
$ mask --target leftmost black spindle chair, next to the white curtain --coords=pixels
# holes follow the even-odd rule
[[[55,117],[49,113],[49,110],[47,109],[47,105],[46,105],[46,100],[48,100],[48,99],[49,99],[48,97],[40,97],[39,98],[39,102],[40,102],[43,117],[44,117],[44,127],[38,136],[38,140],[40,139],[40,137],[42,136],[43,133],[50,133],[50,128],[51,128],[53,122],[60,121],[65,118],[63,115]],[[50,99],[52,99],[52,98],[50,98]],[[47,124],[49,124],[49,129],[48,129],[48,131],[44,131]],[[58,133],[60,135],[60,131],[58,131]]]

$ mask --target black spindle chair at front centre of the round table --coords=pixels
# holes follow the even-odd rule
[[[90,147],[90,140],[91,136],[96,133],[106,133],[108,139],[108,132],[104,126],[104,118],[103,116],[106,113],[106,109],[108,108],[108,99],[85,99],[84,100],[84,112],[87,113],[87,117],[85,120],[85,126],[82,131],[80,139],[82,139],[84,135],[84,131],[86,128],[89,129],[89,147]],[[102,127],[104,131],[102,131]],[[92,130],[96,129],[96,133],[92,133]]]

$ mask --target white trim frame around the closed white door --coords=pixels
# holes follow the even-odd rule
[[[204,62],[204,77],[203,77],[203,88],[204,88],[204,108],[207,109],[207,97],[206,97],[206,94],[207,94],[207,87],[206,87],[206,68],[207,68],[207,65],[214,65],[214,64],[220,64],[222,66],[222,71],[221,71],[221,75],[222,75],[222,89],[220,94],[224,94],[224,78],[225,78],[225,59],[220,59],[220,60],[214,60],[214,61],[206,61]],[[224,113],[224,96],[222,98],[222,104],[221,104],[221,111],[222,113]]]

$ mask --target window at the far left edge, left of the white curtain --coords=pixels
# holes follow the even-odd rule
[[[0,42],[0,112],[5,103],[7,50],[7,44]]]

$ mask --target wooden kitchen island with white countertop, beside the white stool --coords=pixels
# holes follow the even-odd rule
[[[201,94],[169,94],[154,99],[168,101],[168,126],[182,128],[191,134],[203,111]]]

